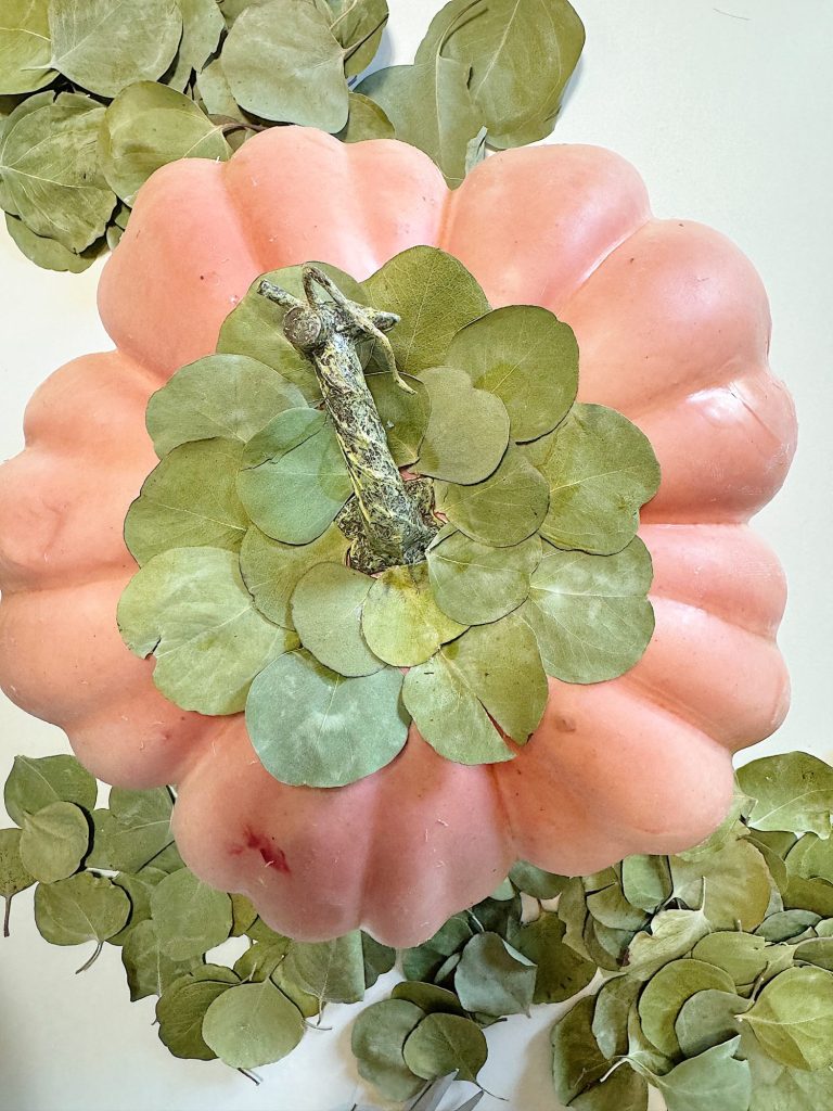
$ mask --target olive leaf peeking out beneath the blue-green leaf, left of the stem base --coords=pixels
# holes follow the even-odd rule
[[[321,563],[343,563],[349,547],[337,524],[309,544],[283,544],[252,526],[240,550],[240,570],[260,612],[293,629],[290,600],[300,580]]]

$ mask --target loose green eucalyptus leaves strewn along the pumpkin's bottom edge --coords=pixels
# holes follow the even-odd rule
[[[243,1071],[278,1061],[328,1003],[361,1001],[393,969],[394,951],[365,933],[293,942],[244,897],[201,883],[177,852],[170,790],[113,788],[102,808],[97,791],[73,757],[14,761],[6,933],[12,897],[37,882],[43,938],[92,945],[82,970],[119,949],[131,1000],[159,997],[157,1032],[175,1057]],[[833,769],[792,752],[742,768],[731,813],[688,852],[573,879],[519,862],[491,898],[399,953],[404,979],[353,1025],[359,1074],[434,1111],[453,1075],[479,1083],[491,1025],[574,1000],[552,1030],[566,1107],[645,1111],[651,1087],[669,1111],[831,1105],[832,832]],[[233,964],[215,952],[228,938]]]

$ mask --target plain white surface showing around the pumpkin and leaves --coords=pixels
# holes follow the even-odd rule
[[[659,216],[726,232],[769,289],[773,367],[795,397],[801,438],[787,483],[757,528],[790,579],[781,643],[794,701],[786,724],[755,754],[804,748],[831,758],[833,2],[574,2],[588,47],[554,139],[624,154]],[[383,58],[410,61],[441,0],[390,3]],[[80,277],[38,270],[0,232],[0,459],[22,447],[23,407],[36,386],[68,359],[109,346],[96,314],[99,269]],[[64,748],[59,730],[0,695],[0,780],[14,753]],[[350,1057],[351,1009],[328,1011],[333,1031],[308,1034],[284,1062],[261,1070],[255,1089],[218,1062],[170,1058],[151,1025],[152,1001],[128,1002],[117,950],[106,947],[76,978],[83,959],[80,949],[43,942],[31,891],[17,897],[12,937],[0,938],[2,1111],[344,1111],[354,1098],[370,1099]],[[508,1102],[486,1099],[483,1111],[555,1111],[548,1078],[555,1013],[536,1009],[531,1020],[489,1032],[482,1079]]]

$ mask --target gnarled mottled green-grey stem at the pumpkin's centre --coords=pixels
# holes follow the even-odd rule
[[[258,292],[287,310],[283,333],[315,370],[355,494],[338,520],[353,541],[350,562],[365,574],[419,563],[440,528],[431,483],[402,479],[359,358],[360,344],[373,340],[397,384],[414,392],[384,334],[399,317],[350,301],[318,267],[303,267],[302,276],[307,304],[270,281]]]

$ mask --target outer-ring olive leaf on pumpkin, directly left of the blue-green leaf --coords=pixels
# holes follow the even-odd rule
[[[238,498],[242,451],[233,440],[200,440],[157,464],[124,521],[126,543],[140,567],[180,548],[240,551],[249,528]]]

